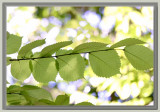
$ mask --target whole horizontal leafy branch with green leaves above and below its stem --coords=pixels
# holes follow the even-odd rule
[[[80,44],[73,50],[62,50],[62,47],[72,44],[72,41],[64,41],[49,45],[41,52],[33,54],[32,49],[45,44],[45,40],[36,40],[19,50],[21,38],[8,33],[7,54],[18,51],[18,59],[7,57],[7,65],[11,63],[13,77],[21,81],[32,73],[35,80],[47,83],[54,81],[58,72],[64,80],[75,81],[83,78],[85,70],[84,58],[80,53],[89,53],[89,62],[94,73],[97,76],[108,78],[120,73],[120,58],[116,51],[118,47],[124,47],[121,50],[124,51],[134,68],[138,70],[153,68],[153,51],[142,45],[137,45],[144,43],[135,38],[127,38],[111,47],[106,47],[105,43],[88,42]],[[16,50],[13,51],[11,47]],[[53,54],[56,55],[52,56]]]

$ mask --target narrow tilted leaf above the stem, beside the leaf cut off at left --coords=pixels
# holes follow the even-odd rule
[[[43,40],[36,40],[34,42],[31,42],[25,46],[23,46],[20,51],[18,52],[18,58],[24,58],[26,57],[28,54],[28,52],[30,52],[33,48],[36,48],[38,46],[41,46],[45,43],[45,39]]]

